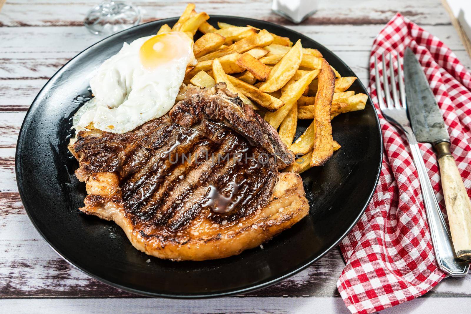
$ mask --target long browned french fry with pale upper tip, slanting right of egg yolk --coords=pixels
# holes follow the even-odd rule
[[[273,36],[266,30],[261,30],[258,34],[252,34],[242,40],[236,41],[227,48],[211,52],[210,54],[199,57],[197,60],[205,61],[219,58],[233,52],[244,53],[255,47],[265,47],[273,42]]]

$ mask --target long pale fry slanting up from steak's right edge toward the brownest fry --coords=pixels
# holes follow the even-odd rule
[[[280,100],[284,102],[284,106],[276,112],[266,113],[263,119],[265,119],[265,121],[267,121],[272,127],[278,129],[281,122],[284,120],[284,117],[286,117],[292,106],[295,105],[298,99],[302,96],[306,86],[308,86],[316,76],[317,72],[311,71],[292,84],[280,97]]]

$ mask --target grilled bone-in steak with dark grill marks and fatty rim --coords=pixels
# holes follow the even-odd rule
[[[125,134],[81,131],[69,146],[87,184],[81,211],[114,220],[158,258],[224,258],[309,211],[292,154],[224,83],[187,86],[168,115]]]

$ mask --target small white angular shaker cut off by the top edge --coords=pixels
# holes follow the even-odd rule
[[[299,24],[317,11],[318,0],[273,0],[271,9],[278,15]]]

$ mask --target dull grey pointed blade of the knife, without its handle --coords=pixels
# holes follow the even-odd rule
[[[404,53],[404,81],[407,111],[417,141],[429,142],[433,145],[450,142],[445,121],[422,70],[422,65],[410,48],[406,48]]]

